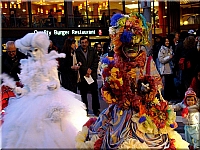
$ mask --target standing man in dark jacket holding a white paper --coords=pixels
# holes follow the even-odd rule
[[[88,112],[88,100],[87,93],[88,90],[92,94],[92,109],[94,115],[99,115],[99,97],[98,97],[98,85],[97,85],[97,68],[98,68],[98,55],[97,52],[88,46],[89,41],[87,37],[80,38],[80,46],[76,50],[76,58],[78,62],[81,62],[79,69],[80,73],[80,84],[79,89],[82,97],[82,101],[86,104]],[[88,84],[85,78],[92,77],[93,83]]]

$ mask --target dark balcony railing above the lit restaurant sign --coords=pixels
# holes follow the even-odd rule
[[[67,19],[65,16],[48,17],[48,15],[32,15],[32,28],[64,28],[64,27],[108,27],[109,18],[106,17],[104,21],[99,15],[69,15]],[[2,28],[24,28],[29,27],[29,15],[10,16],[2,15]]]

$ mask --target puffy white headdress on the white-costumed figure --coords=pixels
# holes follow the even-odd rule
[[[15,47],[24,54],[27,54],[31,48],[41,49],[44,54],[47,54],[49,44],[49,36],[44,32],[28,33],[15,41]]]

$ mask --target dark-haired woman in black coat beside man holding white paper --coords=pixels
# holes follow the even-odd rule
[[[76,60],[76,40],[66,39],[62,53],[66,54],[65,58],[60,59],[60,73],[61,73],[61,85],[74,93],[77,93],[77,81],[78,81],[78,69],[80,63]]]

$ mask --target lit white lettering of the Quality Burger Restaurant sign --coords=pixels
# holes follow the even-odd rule
[[[39,30],[34,30],[34,33],[41,32]],[[45,32],[48,36],[51,35],[60,35],[60,36],[66,36],[66,35],[96,35],[96,30],[42,30],[42,32]]]

